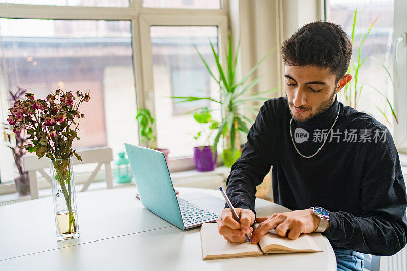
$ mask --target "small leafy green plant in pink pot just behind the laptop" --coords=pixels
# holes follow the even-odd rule
[[[153,123],[155,121],[154,117],[151,116],[149,109],[138,109],[136,119],[140,125],[140,135],[141,142],[146,142],[148,147],[151,149],[159,150],[164,153],[165,160],[168,163],[169,149],[167,148],[156,148],[156,136],[153,134]]]

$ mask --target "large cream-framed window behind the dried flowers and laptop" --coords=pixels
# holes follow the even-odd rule
[[[44,98],[57,88],[90,91],[74,147],[116,153],[124,142],[139,144],[135,116],[147,108],[159,144],[171,150],[170,170],[180,170],[193,164],[193,118],[183,113],[195,105],[169,96],[216,92],[193,47],[211,62],[208,37],[226,44],[227,11],[219,0],[0,0],[0,116],[5,121],[8,90],[16,85]],[[12,180],[13,164],[1,144],[2,183]]]

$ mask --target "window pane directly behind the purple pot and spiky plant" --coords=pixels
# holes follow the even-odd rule
[[[212,96],[219,86],[209,75],[193,45],[206,59],[211,70],[216,70],[209,38],[217,47],[218,29],[214,26],[152,26],[150,28],[154,101],[157,119],[157,145],[170,148],[170,157],[192,156],[196,147],[193,136],[199,125],[191,114],[195,108],[215,110],[212,116],[220,118],[220,107],[200,100],[177,103],[170,96]],[[188,127],[185,131],[184,127]]]

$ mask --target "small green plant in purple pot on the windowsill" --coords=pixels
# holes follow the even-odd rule
[[[212,171],[216,167],[217,153],[212,152],[213,132],[219,128],[219,123],[215,121],[208,107],[194,113],[194,119],[201,125],[201,130],[194,136],[199,146],[194,147],[194,159],[197,171]]]

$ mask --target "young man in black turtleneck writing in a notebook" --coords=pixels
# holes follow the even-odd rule
[[[339,25],[304,25],[281,52],[286,97],[266,101],[250,128],[226,189],[241,223],[225,206],[219,233],[230,242],[252,233],[256,244],[274,228],[290,239],[322,232],[338,269],[362,270],[360,252],[392,255],[406,244],[407,196],[393,138],[337,100],[352,79],[352,44]],[[293,211],[256,218],[256,186],[271,166],[274,200]]]

